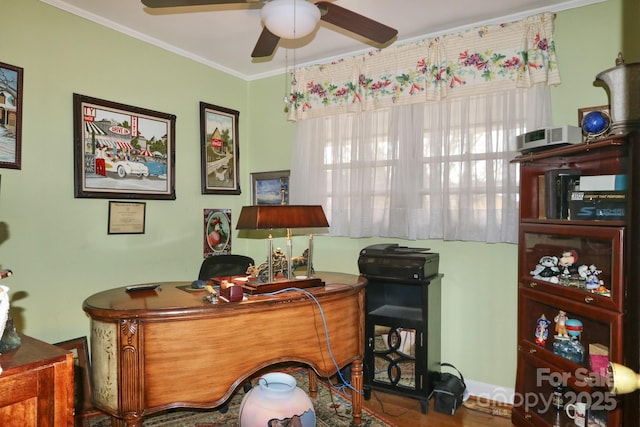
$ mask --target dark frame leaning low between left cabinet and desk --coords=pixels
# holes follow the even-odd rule
[[[55,344],[73,353],[74,408],[76,415],[93,410],[91,403],[91,367],[87,351],[87,337],[75,338]]]

